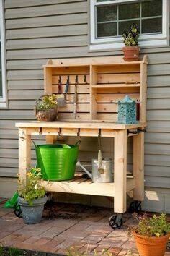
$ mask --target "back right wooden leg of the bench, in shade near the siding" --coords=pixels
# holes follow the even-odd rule
[[[133,200],[142,201],[144,197],[144,133],[133,137],[133,176],[135,179]]]

